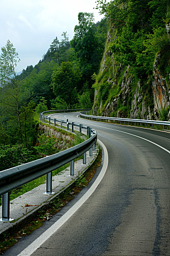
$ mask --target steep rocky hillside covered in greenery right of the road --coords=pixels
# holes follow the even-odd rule
[[[170,118],[169,2],[163,1],[161,11],[156,2],[117,0],[103,4],[108,34],[94,84],[94,114]]]

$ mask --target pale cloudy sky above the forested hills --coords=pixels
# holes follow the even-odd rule
[[[16,72],[36,65],[42,59],[54,38],[62,39],[67,31],[73,39],[74,27],[80,12],[99,15],[96,0],[5,0],[0,1],[0,53],[7,40],[14,45],[20,62]],[[109,1],[107,1],[109,2]]]

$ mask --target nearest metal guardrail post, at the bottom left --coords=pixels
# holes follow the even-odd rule
[[[10,218],[10,192],[2,195],[2,218],[0,221],[12,221]]]

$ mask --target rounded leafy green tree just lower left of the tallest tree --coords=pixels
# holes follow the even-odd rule
[[[68,105],[70,104],[70,108],[76,101],[76,86],[81,77],[80,68],[74,67],[69,61],[63,62],[61,67],[58,67],[53,72],[53,92],[57,97],[67,102]]]

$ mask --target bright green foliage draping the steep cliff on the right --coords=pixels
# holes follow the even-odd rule
[[[99,108],[102,103],[100,114],[108,103],[114,101],[112,115],[128,117],[138,81],[145,95],[145,104],[153,111],[152,73],[155,57],[158,54],[161,56],[158,69],[169,84],[170,40],[165,26],[167,24],[169,26],[170,2],[168,0],[162,2],[114,0],[109,3],[98,0],[96,2],[96,9],[99,9],[109,22],[103,70],[95,78],[94,84],[94,88],[97,89],[97,107]],[[121,97],[124,92],[121,84],[127,67],[129,69],[126,79],[130,77],[129,98],[124,98],[123,103]],[[111,88],[106,83],[108,79],[112,82]],[[118,94],[120,100],[117,101]]]

